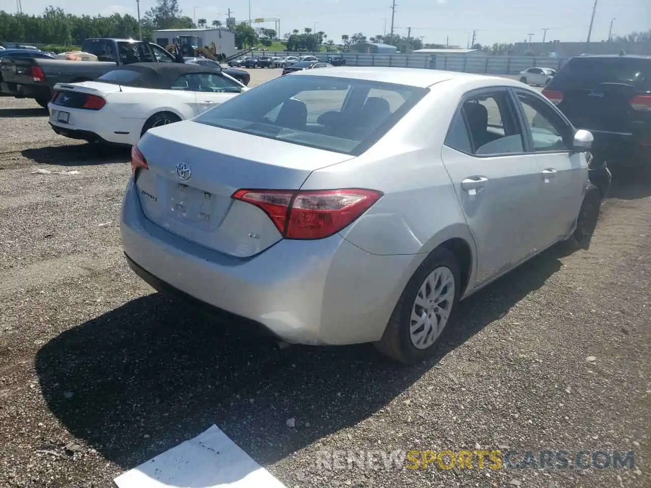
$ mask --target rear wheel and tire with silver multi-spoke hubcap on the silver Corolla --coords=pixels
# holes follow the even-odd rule
[[[436,297],[437,301],[435,302],[436,286],[434,286],[435,290],[432,290],[428,283],[432,282],[432,280],[434,280],[435,284],[438,283],[437,277],[442,277],[448,281],[447,284],[441,286],[441,290],[446,288],[444,297],[447,297],[447,299],[438,301],[438,297]],[[452,285],[451,296],[450,284]],[[432,296],[421,296],[425,294],[424,292],[427,291],[428,286]],[[435,249],[409,279],[381,339],[374,342],[376,349],[390,359],[406,365],[417,364],[434,355],[439,346],[441,333],[450,323],[452,314],[456,310],[460,289],[461,271],[454,254],[444,247]],[[417,301],[430,303],[430,308],[423,308]],[[445,320],[437,314],[437,311],[444,312],[443,307],[439,308],[440,304],[444,302],[445,314],[447,314]],[[418,341],[415,340],[414,334],[411,332],[411,322],[413,314],[422,313],[427,314],[427,318],[421,327],[415,329],[415,332],[422,329],[421,334],[424,333],[425,335],[422,344],[417,346],[416,342]],[[431,319],[434,318],[436,318],[436,324],[431,323]],[[442,325],[441,321],[443,321]]]

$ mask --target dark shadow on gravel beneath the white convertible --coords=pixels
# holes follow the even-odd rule
[[[66,146],[47,146],[21,151],[23,157],[35,163],[59,166],[101,165],[104,163],[124,163],[131,158],[130,148],[105,144],[69,144]]]

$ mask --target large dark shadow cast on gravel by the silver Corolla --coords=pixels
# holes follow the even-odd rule
[[[124,469],[212,424],[269,465],[375,413],[540,288],[559,256],[546,251],[462,302],[419,366],[398,367],[369,345],[278,350],[154,293],[62,332],[38,351],[36,370],[61,424]]]

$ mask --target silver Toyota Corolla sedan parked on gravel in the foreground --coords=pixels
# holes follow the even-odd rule
[[[585,247],[591,142],[519,81],[306,70],[148,131],[124,251],[154,288],[242,327],[413,363],[460,299],[559,241]]]

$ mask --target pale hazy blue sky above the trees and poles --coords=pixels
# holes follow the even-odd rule
[[[135,0],[109,0],[109,5],[98,10],[98,4],[88,0],[21,0],[23,12],[38,14],[53,4],[74,14],[129,13],[135,16]],[[310,27],[324,31],[329,38],[340,41],[341,34],[361,32],[367,37],[383,34],[391,29],[392,0],[251,0],[253,18],[280,18],[281,34],[292,29]],[[396,0],[395,32],[424,36],[424,42],[467,44],[468,32],[477,29],[477,42],[517,42],[532,36],[542,40],[544,28],[547,40],[585,41],[594,0]],[[154,5],[154,0],[141,0],[141,13]],[[94,4],[94,7],[93,7]],[[229,7],[238,20],[248,20],[248,3],[243,0],[180,0],[183,13],[208,21],[225,21]],[[385,5],[386,4],[386,5]],[[2,0],[1,7],[16,10],[15,0]],[[613,34],[651,29],[651,0],[599,0],[592,40],[608,37],[611,19]],[[315,25],[316,22],[316,25]],[[273,29],[273,22],[260,27]]]

